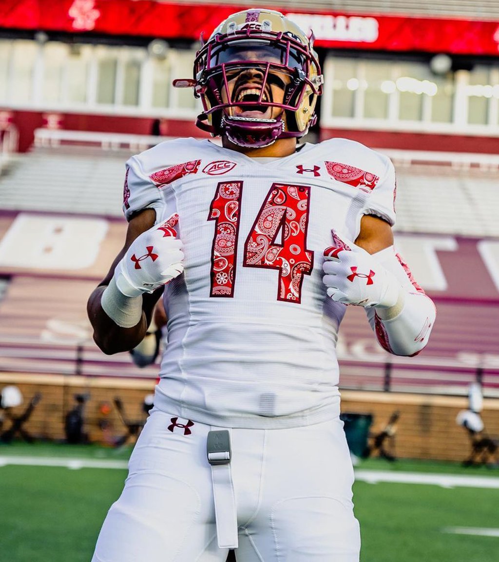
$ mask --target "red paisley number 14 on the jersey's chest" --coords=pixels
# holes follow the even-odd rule
[[[216,220],[211,296],[232,297],[242,182],[219,183],[208,220]],[[303,276],[312,273],[314,253],[306,249],[310,188],[274,183],[246,239],[243,265],[279,270],[277,300],[301,301]],[[278,240],[279,239],[279,240]]]

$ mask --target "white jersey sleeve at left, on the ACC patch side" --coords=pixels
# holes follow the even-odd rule
[[[139,211],[154,209],[161,216],[164,206],[157,186],[145,174],[140,160],[132,156],[126,162],[125,185],[123,185],[123,213],[127,221]]]

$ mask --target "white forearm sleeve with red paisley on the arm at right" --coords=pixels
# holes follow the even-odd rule
[[[417,355],[427,345],[436,318],[431,298],[415,282],[408,265],[393,246],[373,257],[400,283],[399,299],[389,309],[365,309],[378,342],[393,355]]]

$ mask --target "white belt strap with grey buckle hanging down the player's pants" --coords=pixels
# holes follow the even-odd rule
[[[212,467],[217,541],[220,549],[237,549],[236,496],[231,474],[231,442],[227,429],[208,432],[208,463]]]

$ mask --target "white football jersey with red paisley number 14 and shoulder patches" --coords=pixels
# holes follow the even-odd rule
[[[391,161],[362,144],[303,144],[258,161],[208,139],[127,162],[123,210],[178,214],[184,274],[166,285],[168,345],[155,406],[231,427],[282,428],[339,413],[335,346],[345,305],[327,297],[331,229],[395,221]]]

